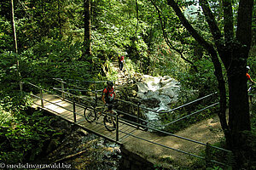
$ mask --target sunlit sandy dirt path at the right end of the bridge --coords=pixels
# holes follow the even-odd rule
[[[215,133],[212,133],[212,130],[210,129],[215,131]],[[224,136],[222,131],[220,131],[220,124],[217,116],[198,122],[175,134],[177,136],[193,139],[205,144],[214,144]],[[161,136],[160,134],[150,132],[139,132],[135,133],[135,135],[140,138],[148,139],[152,142],[163,144],[176,150],[183,150],[195,155],[198,155],[201,150],[205,149],[204,145],[195,144],[173,136]],[[151,144],[142,139],[130,138],[125,142],[124,147],[126,150],[137,153],[137,155],[142,156],[154,164],[161,163],[162,165],[165,165],[165,167],[170,167],[169,164],[166,164],[166,161],[183,166],[189,166],[191,163],[191,156],[187,156],[176,150],[167,149],[157,144]]]

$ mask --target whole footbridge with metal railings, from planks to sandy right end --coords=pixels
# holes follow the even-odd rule
[[[198,135],[201,136],[203,141],[197,141],[192,138],[192,136],[184,137],[174,133],[167,133],[163,130],[172,123],[178,121],[183,121],[189,116],[196,115],[201,111],[205,111],[217,103],[205,106],[200,111],[194,111],[187,116],[179,117],[173,122],[169,122],[165,125],[157,125],[153,122],[148,122],[143,118],[143,111],[152,111],[155,114],[172,114],[173,111],[177,111],[196,102],[200,102],[203,99],[212,98],[216,95],[209,94],[201,99],[196,99],[195,101],[189,102],[188,104],[178,106],[170,111],[154,111],[143,107],[140,102],[132,103],[130,101],[125,101],[122,99],[118,100],[118,105],[125,107],[125,111],[117,110],[119,114],[116,114],[113,118],[116,120],[116,128],[114,131],[108,131],[102,122],[102,117],[95,122],[87,122],[84,119],[84,109],[96,109],[96,106],[102,105],[102,87],[106,81],[73,81],[69,80],[64,82],[59,78],[55,78],[55,85],[52,88],[42,88],[41,86],[32,84],[31,82],[23,82],[23,91],[30,93],[33,99],[32,108],[41,109],[44,111],[49,111],[55,116],[61,116],[61,118],[72,122],[79,127],[84,128],[86,131],[91,133],[96,133],[96,135],[102,138],[109,139],[117,144],[124,145],[128,150],[134,150],[137,153],[144,153],[144,155],[155,155],[153,157],[172,157],[173,160],[179,159],[179,161],[184,161],[177,157],[177,155],[192,156],[199,159],[214,162],[220,165],[225,165],[224,162],[215,161],[208,159],[204,156],[200,156],[199,150],[220,150],[224,152],[224,155],[229,155],[230,150],[225,150],[211,144],[211,139],[216,138],[214,134],[210,131],[209,133],[201,133],[198,131]],[[83,87],[83,88],[82,88]],[[132,111],[132,112],[131,112]],[[216,123],[211,124],[215,126]],[[204,126],[204,128],[208,128]],[[146,130],[145,130],[146,129]],[[208,136],[208,140],[203,137]],[[210,140],[209,140],[210,139]],[[186,147],[187,145],[193,144],[193,151]],[[145,147],[152,147],[152,150],[145,151]],[[186,150],[187,149],[187,150]],[[197,150],[197,151],[195,151]],[[143,154],[142,154],[143,155]],[[185,159],[185,158],[184,158]]]

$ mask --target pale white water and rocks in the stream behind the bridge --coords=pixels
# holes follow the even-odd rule
[[[143,82],[138,82],[137,95],[141,99],[159,99],[160,106],[154,108],[154,111],[169,111],[170,105],[177,102],[179,82],[172,77],[151,77],[143,75]],[[157,102],[157,101],[156,101]],[[145,112],[149,121],[157,121],[157,113]]]

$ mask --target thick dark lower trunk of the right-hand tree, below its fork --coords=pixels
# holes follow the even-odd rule
[[[229,83],[229,127],[231,133],[230,150],[232,150],[237,169],[249,160],[246,131],[251,131],[247,97],[246,61],[233,62],[227,70]],[[241,71],[242,70],[242,71]]]

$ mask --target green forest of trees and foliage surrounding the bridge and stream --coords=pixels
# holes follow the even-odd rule
[[[177,132],[214,112],[224,134],[218,146],[232,151],[230,164],[195,161],[184,169],[256,169],[256,87],[246,77],[249,66],[256,82],[253,0],[1,0],[0,166],[49,163],[38,161],[49,155],[45,144],[55,139],[54,148],[61,147],[65,135],[51,128],[60,122],[54,116],[31,110],[24,82],[50,90],[54,78],[114,81],[119,56],[125,56],[125,74],[177,81],[173,107],[217,92],[218,106],[166,131]]]

